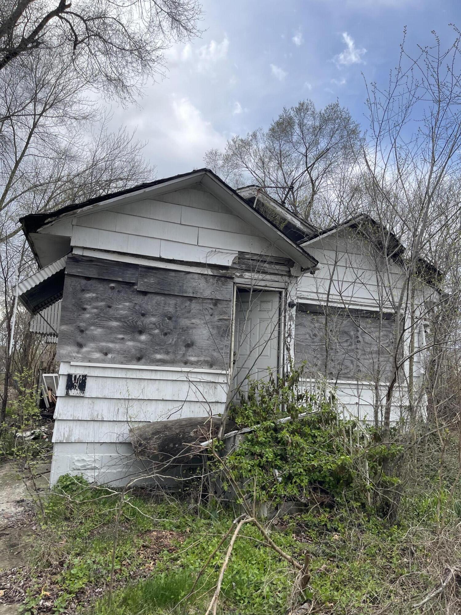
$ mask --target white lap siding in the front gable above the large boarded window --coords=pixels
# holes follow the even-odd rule
[[[76,216],[71,244],[177,261],[230,264],[238,250],[283,256],[216,197],[183,189]]]

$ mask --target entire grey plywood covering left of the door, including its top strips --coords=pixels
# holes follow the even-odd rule
[[[66,269],[58,360],[228,367],[232,279],[85,258]]]

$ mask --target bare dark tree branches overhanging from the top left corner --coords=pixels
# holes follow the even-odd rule
[[[58,51],[74,79],[132,98],[161,71],[171,41],[199,33],[195,0],[7,0],[0,10],[0,70],[37,50]]]

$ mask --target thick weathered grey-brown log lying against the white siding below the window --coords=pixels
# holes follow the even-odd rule
[[[195,416],[132,427],[129,433],[137,458],[155,457],[162,463],[177,465],[203,452],[200,445],[218,435],[220,424],[219,416]],[[235,423],[226,421],[226,432],[235,427]]]

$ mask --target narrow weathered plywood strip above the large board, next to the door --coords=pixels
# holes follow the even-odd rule
[[[232,301],[232,278],[208,276],[173,269],[139,268],[138,290],[162,295],[181,295]]]

